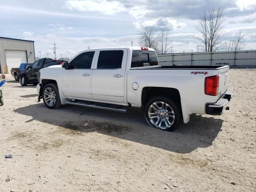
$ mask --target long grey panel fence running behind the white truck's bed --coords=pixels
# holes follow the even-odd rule
[[[256,50],[160,54],[158,61],[162,66],[229,65],[234,68],[255,68]]]

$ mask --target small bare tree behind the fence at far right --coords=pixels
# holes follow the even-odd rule
[[[244,35],[242,32],[237,33],[229,42],[225,42],[226,51],[240,51],[244,47]]]

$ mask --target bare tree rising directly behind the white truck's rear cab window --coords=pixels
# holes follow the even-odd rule
[[[158,52],[158,40],[159,36],[153,30],[152,27],[145,27],[140,32],[138,32],[140,36],[140,44],[145,47],[153,48]]]

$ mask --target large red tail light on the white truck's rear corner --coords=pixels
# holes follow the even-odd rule
[[[219,90],[219,76],[206,77],[204,80],[204,94],[216,96]]]

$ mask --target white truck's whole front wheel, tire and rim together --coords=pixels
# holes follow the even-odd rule
[[[49,109],[61,107],[60,94],[56,83],[50,83],[44,86],[42,96],[45,106]]]

